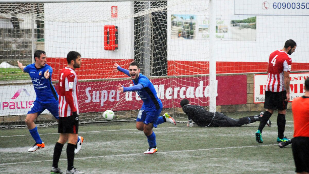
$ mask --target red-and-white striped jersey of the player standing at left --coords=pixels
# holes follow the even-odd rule
[[[65,67],[59,76],[59,117],[68,117],[72,112],[78,113],[78,83],[75,71]]]

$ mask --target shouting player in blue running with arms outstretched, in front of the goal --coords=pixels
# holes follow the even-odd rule
[[[173,125],[176,125],[176,122],[169,116],[168,113],[165,113],[162,117],[159,117],[163,104],[157,96],[154,85],[146,76],[140,74],[140,69],[138,68],[138,64],[136,62],[132,62],[129,65],[129,70],[121,68],[121,66],[117,63],[115,63],[115,68],[131,77],[134,83],[134,86],[132,87],[124,87],[119,84],[117,91],[136,91],[139,97],[143,100],[142,108],[140,109],[136,119],[136,128],[144,131],[144,134],[148,139],[149,148],[144,152],[144,154],[153,154],[158,151],[155,133],[152,130],[153,127],[157,128],[157,125],[166,121],[172,123]]]

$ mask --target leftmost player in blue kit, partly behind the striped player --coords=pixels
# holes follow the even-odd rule
[[[36,117],[47,109],[57,120],[59,119],[58,94],[52,84],[53,69],[51,66],[46,64],[46,58],[46,53],[44,51],[36,50],[34,53],[35,63],[23,66],[22,63],[17,61],[19,68],[23,72],[29,73],[34,91],[36,92],[36,100],[31,105],[25,119],[29,132],[36,142],[30,149],[28,149],[28,152],[34,152],[45,147],[45,144],[40,138],[37,127],[34,123]],[[83,138],[80,137],[80,139]],[[82,141],[80,139],[79,141]],[[80,147],[78,148],[80,150]]]

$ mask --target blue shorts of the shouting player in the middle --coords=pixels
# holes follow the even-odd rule
[[[157,128],[157,125],[158,125],[157,120],[161,114],[161,111],[162,111],[162,108],[159,108],[159,110],[156,110],[156,111],[140,110],[138,112],[136,121],[142,121],[146,125],[149,123],[153,123],[154,127]]]

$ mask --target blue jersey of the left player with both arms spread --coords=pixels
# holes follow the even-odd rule
[[[44,72],[49,70],[49,79],[45,79]],[[54,103],[58,100],[58,94],[52,84],[53,69],[45,64],[42,68],[37,69],[33,64],[27,65],[24,72],[29,73],[34,91],[36,91],[36,101],[41,103]]]

